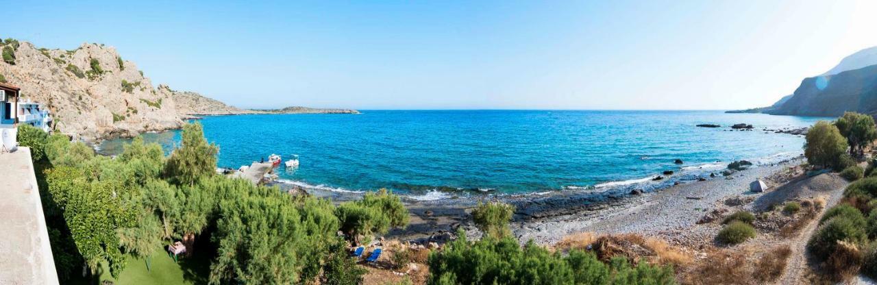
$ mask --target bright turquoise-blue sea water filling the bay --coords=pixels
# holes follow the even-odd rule
[[[278,169],[281,182],[338,191],[389,188],[434,199],[641,188],[656,184],[650,178],[664,170],[676,174],[658,185],[694,180],[731,160],[772,163],[800,155],[801,136],[761,130],[809,126],[818,119],[714,110],[366,110],[199,121],[207,139],[220,146],[220,167],[295,153],[301,166]],[[755,130],[730,131],[736,123]],[[146,139],[169,150],[179,133]],[[100,148],[117,153],[125,141],[108,140]],[[676,165],[675,159],[685,163]]]

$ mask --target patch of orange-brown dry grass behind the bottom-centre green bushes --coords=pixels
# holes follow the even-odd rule
[[[563,252],[572,249],[590,250],[602,261],[622,256],[633,264],[645,260],[651,264],[681,265],[692,260],[690,255],[667,245],[667,242],[663,240],[629,233],[602,236],[596,236],[590,232],[576,233],[564,237],[554,245],[554,249]]]

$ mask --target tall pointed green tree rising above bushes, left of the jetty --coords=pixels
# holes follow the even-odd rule
[[[171,182],[194,186],[203,177],[216,174],[219,147],[207,143],[201,124],[182,126],[182,146],[168,158],[165,174]]]

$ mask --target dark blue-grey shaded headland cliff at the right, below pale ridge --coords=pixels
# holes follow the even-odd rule
[[[765,112],[837,117],[847,110],[877,115],[877,65],[806,78],[786,103]]]

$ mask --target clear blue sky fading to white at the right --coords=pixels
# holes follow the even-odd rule
[[[5,2],[5,3],[4,3]],[[877,1],[0,0],[0,36],[114,46],[243,108],[732,110],[877,46]]]

